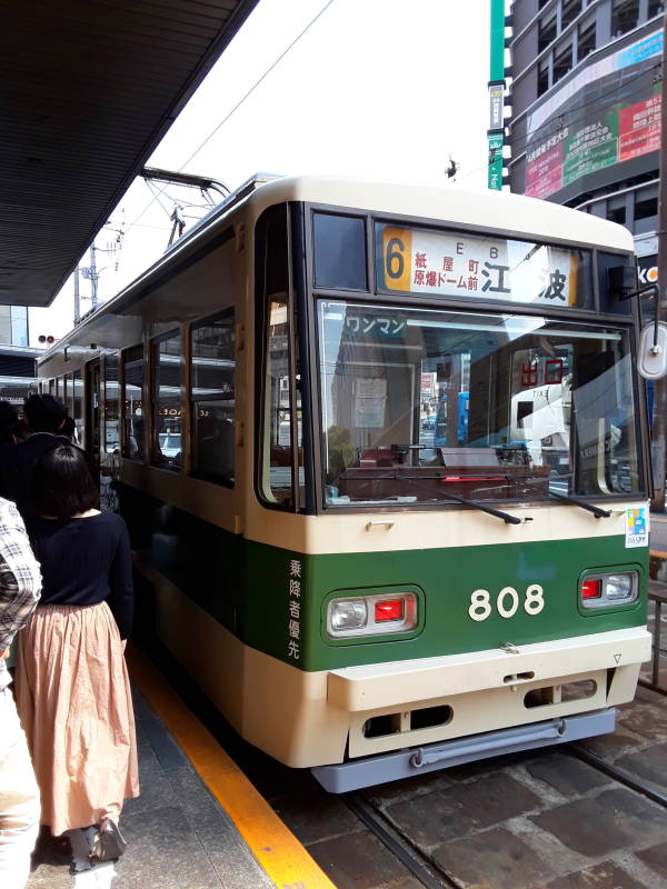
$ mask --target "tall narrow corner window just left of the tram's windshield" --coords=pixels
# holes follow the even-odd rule
[[[300,500],[303,496],[303,451],[301,396],[297,391],[297,403],[292,406],[290,394],[286,208],[270,210],[260,222],[258,231],[257,280],[261,288],[258,297],[265,304],[260,488],[269,503],[287,509],[295,507],[295,459]],[[298,356],[293,358],[293,367],[298,373]],[[292,407],[296,414],[296,442],[292,442]],[[297,449],[296,456],[293,446]]]

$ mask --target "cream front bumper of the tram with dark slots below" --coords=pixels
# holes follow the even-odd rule
[[[556,720],[557,731],[547,740],[560,743],[573,739],[573,717],[608,711],[633,699],[650,645],[646,627],[637,627],[349,667],[329,671],[327,703],[348,713],[350,759],[550,720]],[[563,728],[563,720],[571,730]],[[584,730],[579,722],[577,737],[613,731],[614,718],[594,720],[580,733]],[[537,740],[522,742],[512,749],[540,746]],[[504,743],[500,739],[500,748]]]

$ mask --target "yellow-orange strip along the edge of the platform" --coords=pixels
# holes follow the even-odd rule
[[[128,663],[132,680],[278,889],[336,889],[335,883],[148,658],[130,646]]]

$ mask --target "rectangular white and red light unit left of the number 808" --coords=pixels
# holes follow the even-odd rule
[[[331,599],[327,606],[327,633],[332,638],[385,636],[417,626],[414,592],[368,595]]]

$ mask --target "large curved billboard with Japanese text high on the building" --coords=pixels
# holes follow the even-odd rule
[[[585,178],[581,188],[590,190],[607,168],[645,156],[647,170],[657,167],[647,156],[660,147],[661,50],[661,31],[644,37],[584,64],[537,104],[528,116],[525,194],[550,198]]]

